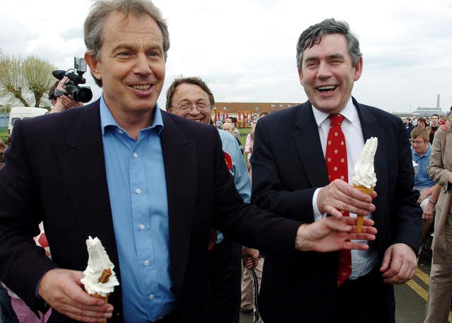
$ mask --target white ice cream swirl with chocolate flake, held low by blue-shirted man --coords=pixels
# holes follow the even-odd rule
[[[81,282],[89,294],[97,294],[105,297],[107,294],[113,292],[114,286],[119,285],[119,281],[113,271],[114,264],[110,261],[99,238],[95,237],[93,239],[92,237],[88,237],[86,247],[88,248],[88,266],[83,271],[85,277],[81,279]],[[109,276],[107,283],[99,283],[99,278],[104,269],[111,269],[112,276]]]

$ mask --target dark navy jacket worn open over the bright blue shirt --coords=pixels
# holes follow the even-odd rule
[[[215,127],[167,112],[162,119],[172,288],[184,322],[205,322],[210,228],[244,245],[293,254],[300,223],[243,203]],[[46,271],[85,269],[88,235],[100,238],[121,281],[98,100],[15,124],[0,171],[0,205],[0,280],[32,310],[43,308],[35,288]],[[52,260],[32,240],[40,221]],[[114,305],[109,322],[123,322],[121,286],[109,303]],[[54,311],[49,322],[71,321]]]

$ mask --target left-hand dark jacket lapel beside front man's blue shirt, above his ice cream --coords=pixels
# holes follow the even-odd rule
[[[85,237],[99,237],[109,258],[119,268],[109,203],[107,175],[100,131],[99,101],[74,115],[69,131],[54,143],[61,173]],[[120,279],[120,271],[117,271]],[[112,303],[121,311],[121,286]]]

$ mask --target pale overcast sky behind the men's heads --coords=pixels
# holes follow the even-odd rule
[[[345,20],[359,37],[364,72],[353,95],[388,112],[452,105],[452,1],[155,0],[171,48],[165,86],[201,76],[218,102],[304,102],[295,64],[299,34],[324,18]],[[83,57],[90,0],[0,3],[0,49],[37,54],[58,69]],[[365,8],[364,8],[365,7]],[[88,77],[95,98],[100,89]]]

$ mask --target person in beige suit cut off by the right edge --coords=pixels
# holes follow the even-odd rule
[[[452,110],[452,109],[451,109]],[[451,124],[441,126],[435,133],[428,175],[440,190],[430,197],[435,206],[432,268],[429,298],[424,323],[448,322],[452,298],[452,143]]]

